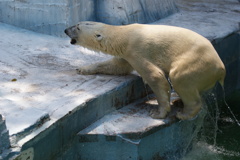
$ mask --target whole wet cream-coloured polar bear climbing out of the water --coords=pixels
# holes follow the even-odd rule
[[[113,26],[80,22],[65,33],[71,44],[113,55],[105,62],[78,69],[79,74],[125,75],[136,70],[156,95],[159,107],[151,117],[170,112],[170,84],[184,104],[177,118],[185,120],[201,109],[200,95],[216,82],[222,86],[225,67],[212,44],[201,35],[180,27],[130,24]]]

